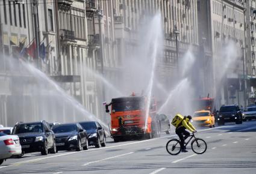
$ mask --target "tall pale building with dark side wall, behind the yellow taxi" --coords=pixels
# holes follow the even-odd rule
[[[199,33],[204,46],[212,52],[209,70],[216,107],[221,104],[246,105],[244,1],[198,1]],[[234,52],[236,52],[234,54]]]

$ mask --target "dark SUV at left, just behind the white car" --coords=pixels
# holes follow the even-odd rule
[[[56,153],[55,135],[46,121],[19,122],[14,125],[12,134],[19,136],[22,152],[47,155],[49,150],[52,154]]]

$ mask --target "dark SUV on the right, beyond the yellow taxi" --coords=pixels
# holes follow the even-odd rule
[[[218,112],[218,111],[217,111]],[[218,125],[224,125],[225,122],[236,122],[242,124],[242,112],[238,105],[223,105],[217,114]]]

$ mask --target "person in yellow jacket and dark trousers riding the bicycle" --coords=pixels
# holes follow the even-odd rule
[[[190,136],[189,131],[196,132],[196,128],[190,123],[192,116],[184,116],[183,121],[176,127],[175,133],[180,137],[181,141],[181,152],[187,152],[186,147],[184,146],[185,139]],[[185,136],[183,136],[185,135]]]

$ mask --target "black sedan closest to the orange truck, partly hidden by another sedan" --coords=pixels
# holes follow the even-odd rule
[[[80,122],[80,124],[87,131],[89,136],[89,146],[95,146],[95,148],[99,148],[99,145],[102,147],[106,146],[105,130],[99,122],[84,121]]]

